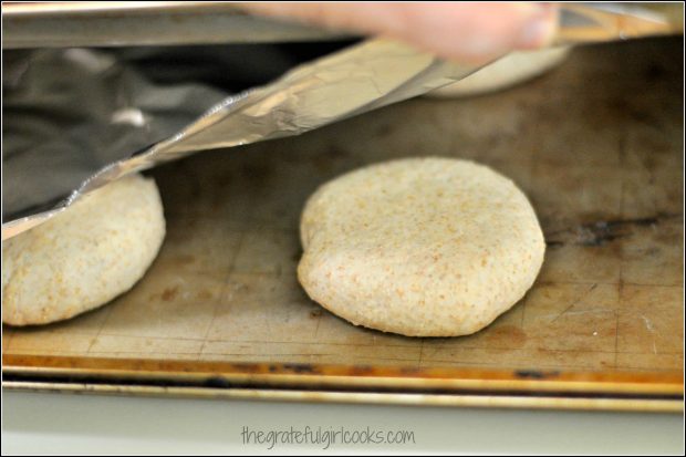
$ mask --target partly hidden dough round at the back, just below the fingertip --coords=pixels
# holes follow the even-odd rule
[[[450,85],[426,94],[451,98],[495,92],[538,76],[560,64],[570,48],[549,48],[538,51],[512,52],[488,66]]]

